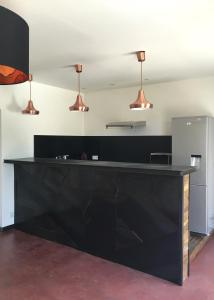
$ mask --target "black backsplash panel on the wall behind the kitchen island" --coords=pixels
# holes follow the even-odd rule
[[[98,155],[99,160],[150,162],[152,152],[172,152],[171,136],[34,136],[34,156],[53,157],[68,154],[72,159],[88,159]],[[153,158],[154,159],[154,158]],[[154,163],[167,163],[166,157],[158,157]]]

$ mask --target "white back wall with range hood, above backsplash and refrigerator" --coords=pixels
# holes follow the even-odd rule
[[[87,93],[86,135],[167,135],[175,116],[214,115],[214,77],[145,85],[152,110],[131,111],[138,87]],[[146,128],[105,129],[110,121],[145,120]]]

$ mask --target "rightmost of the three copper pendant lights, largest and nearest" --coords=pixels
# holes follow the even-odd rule
[[[142,78],[142,62],[145,61],[145,51],[136,52],[137,59],[141,62],[141,89],[138,91],[137,100],[129,105],[131,110],[145,110],[153,107],[153,104],[146,100],[143,91],[143,78]]]

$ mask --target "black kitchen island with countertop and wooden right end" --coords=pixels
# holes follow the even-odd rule
[[[14,164],[16,228],[178,284],[188,276],[195,168],[46,158],[5,163]]]

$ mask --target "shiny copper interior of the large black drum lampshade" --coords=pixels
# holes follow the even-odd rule
[[[0,84],[16,84],[28,80],[28,75],[24,72],[0,65]]]

